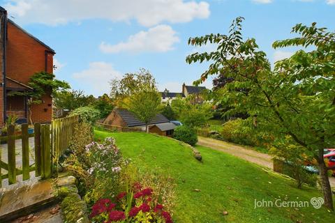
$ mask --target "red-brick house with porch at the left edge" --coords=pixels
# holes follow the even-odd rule
[[[34,91],[28,86],[31,75],[36,72],[53,71],[53,49],[22,29],[7,17],[7,11],[0,7],[0,125],[10,114],[21,122],[29,116],[29,98],[12,95],[15,91]],[[40,105],[31,109],[33,122],[48,123],[52,119],[51,95],[44,95]]]

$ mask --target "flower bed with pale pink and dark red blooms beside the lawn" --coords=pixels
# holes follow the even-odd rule
[[[141,172],[122,157],[112,137],[73,148],[66,168],[81,178],[92,222],[172,222],[172,178]]]

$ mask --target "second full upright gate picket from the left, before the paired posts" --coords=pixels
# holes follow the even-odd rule
[[[28,124],[21,125],[22,132],[22,180],[30,178]]]

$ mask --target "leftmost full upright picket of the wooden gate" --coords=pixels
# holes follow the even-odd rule
[[[8,183],[16,183],[15,125],[8,125]]]

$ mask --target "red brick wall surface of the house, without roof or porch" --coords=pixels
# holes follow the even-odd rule
[[[47,48],[38,43],[8,22],[7,40],[7,76],[27,84],[35,72],[45,71],[45,50]],[[53,55],[47,54],[47,72],[52,72]],[[45,95],[44,102],[32,108],[32,121],[47,123],[52,119],[52,98]]]

